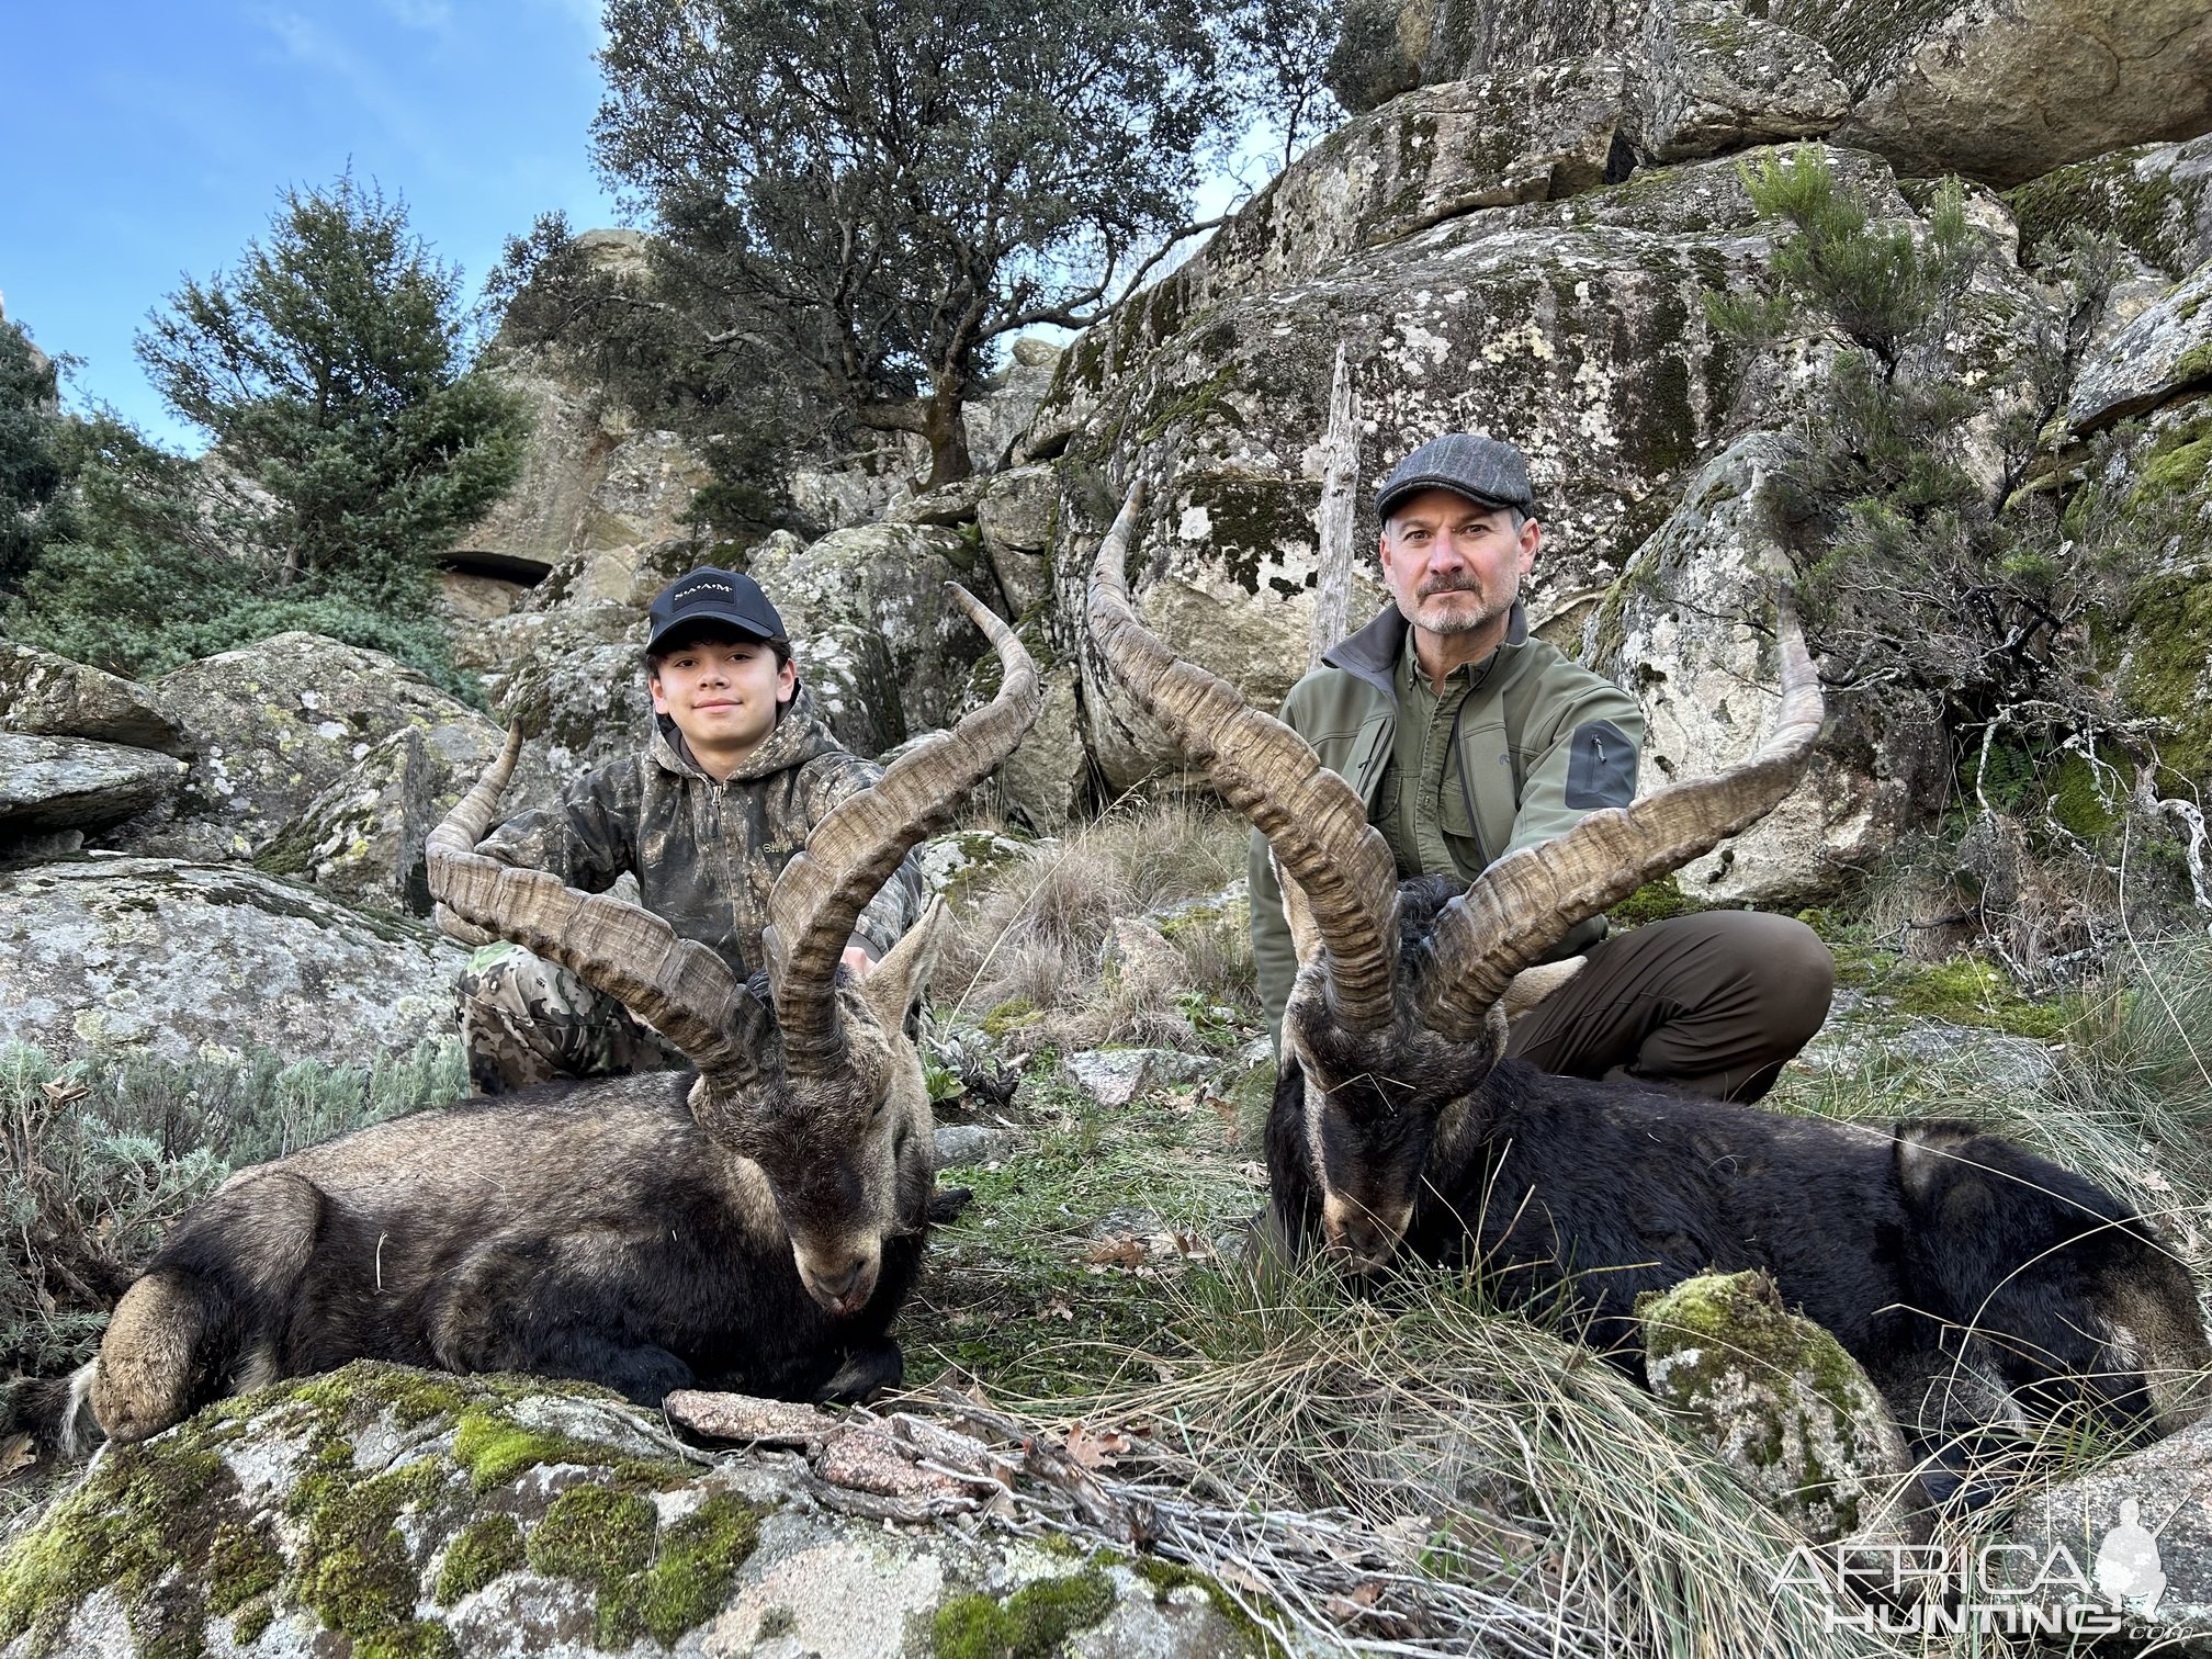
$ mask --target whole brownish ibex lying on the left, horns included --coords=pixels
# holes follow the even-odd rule
[[[770,898],[768,995],[661,918],[473,845],[500,763],[429,838],[456,916],[562,962],[697,1075],[476,1099],[241,1170],[170,1232],[73,1389],[139,1440],[349,1358],[538,1371],[657,1402],[894,1380],[889,1323],[933,1177],[916,1020],[942,905],[854,982],[838,956],[898,860],[1022,739],[1037,670],[964,591],[998,697],[823,818]]]

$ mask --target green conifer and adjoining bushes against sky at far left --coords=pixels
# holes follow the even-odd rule
[[[436,555],[513,482],[526,414],[469,369],[458,292],[400,204],[352,177],[288,190],[237,272],[186,281],[139,336],[206,456],[106,414],[51,425],[62,518],[9,637],[150,677],[305,628],[480,699],[434,619]]]

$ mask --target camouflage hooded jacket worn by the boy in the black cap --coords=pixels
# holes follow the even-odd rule
[[[646,909],[750,975],[765,964],[768,889],[783,865],[838,801],[878,776],[883,768],[838,745],[801,686],[776,730],[726,781],[708,776],[661,717],[644,752],[584,774],[476,849],[586,894],[628,869]],[[922,876],[907,854],[860,911],[852,942],[883,956],[920,907]]]

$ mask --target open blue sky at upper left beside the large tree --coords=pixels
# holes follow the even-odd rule
[[[228,270],[285,186],[407,199],[476,296],[549,208],[617,223],[591,168],[597,0],[46,0],[0,7],[0,294],[108,403],[199,449],[131,354],[146,312]]]

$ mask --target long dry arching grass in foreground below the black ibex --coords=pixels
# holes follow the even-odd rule
[[[1340,1524],[1380,1586],[1365,1608],[1301,1584],[1256,1533],[1217,1522],[1199,1544],[1194,1564],[1256,1582],[1310,1637],[1398,1655],[1880,1650],[1776,1588],[1790,1531],[1650,1396],[1469,1276],[1407,1267],[1358,1301],[1301,1267],[1177,1294],[1126,1385],[1020,1409],[1141,1433],[1223,1509]]]

